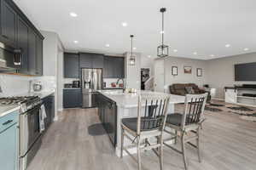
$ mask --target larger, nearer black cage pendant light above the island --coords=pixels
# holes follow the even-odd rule
[[[162,35],[162,44],[157,47],[157,56],[166,57],[169,55],[169,47],[164,45],[164,13],[166,12],[166,8],[160,8],[160,13],[162,14],[162,31],[160,32]]]

